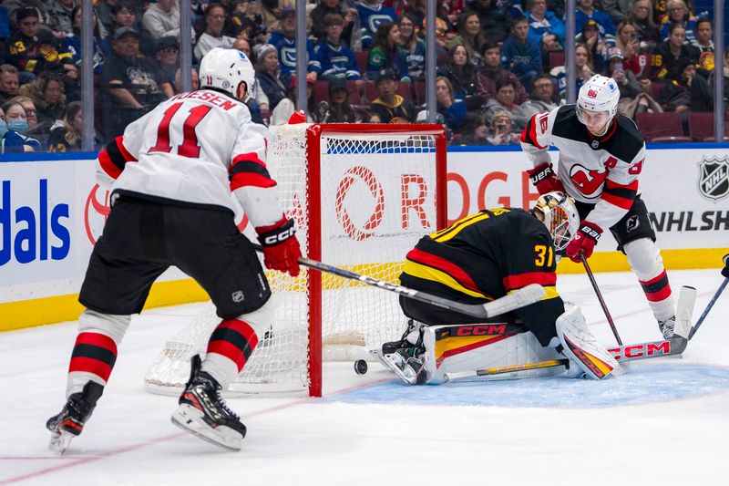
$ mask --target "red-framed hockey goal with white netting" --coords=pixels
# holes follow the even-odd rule
[[[296,124],[273,133],[267,167],[283,210],[313,260],[398,283],[406,253],[446,225],[446,134],[440,125]],[[243,218],[239,227],[246,225]],[[243,232],[253,242],[250,224]],[[398,339],[398,296],[301,267],[266,271],[275,312],[228,394],[308,390],[322,395],[322,361],[366,358]],[[209,302],[149,367],[145,388],[180,393],[190,357],[220,323]]]

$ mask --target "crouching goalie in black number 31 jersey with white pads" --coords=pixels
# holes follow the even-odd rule
[[[620,364],[590,333],[580,308],[565,305],[556,290],[558,256],[580,226],[574,202],[554,191],[530,211],[484,210],[423,237],[407,253],[401,283],[464,304],[485,304],[541,284],[537,303],[484,322],[400,297],[410,319],[399,341],[373,354],[409,384],[437,384],[449,374],[568,358],[570,377],[602,379]],[[515,367],[516,369],[517,367]],[[560,374],[564,366],[519,371],[520,376]]]

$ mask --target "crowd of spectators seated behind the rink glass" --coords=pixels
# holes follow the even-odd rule
[[[563,0],[436,2],[436,120],[453,144],[519,143],[539,111],[565,102]],[[615,79],[619,110],[714,111],[714,25],[708,0],[577,0],[575,88]],[[80,0],[0,2],[0,153],[81,148]],[[294,0],[192,0],[191,73],[180,72],[179,0],[95,0],[97,144],[121,134],[213,47],[257,70],[254,121],[282,124],[296,106],[306,56],[307,117],[318,122],[418,122],[426,114],[425,0],[312,0],[296,47]],[[729,50],[724,50],[724,102]],[[726,105],[725,105],[726,106]]]

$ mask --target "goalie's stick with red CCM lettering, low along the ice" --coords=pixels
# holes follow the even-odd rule
[[[608,349],[612,357],[619,363],[627,361],[638,361],[640,359],[651,359],[653,357],[677,356],[683,353],[688,344],[688,340],[675,336],[668,341],[651,341],[647,343],[638,343],[634,345],[618,346]],[[479,377],[489,375],[501,375],[504,373],[514,373],[516,371],[526,371],[528,369],[539,369],[543,367],[564,367],[570,363],[567,358],[548,359],[545,361],[537,361],[535,363],[526,363],[524,365],[511,365],[508,367],[489,367],[479,369],[476,374]]]

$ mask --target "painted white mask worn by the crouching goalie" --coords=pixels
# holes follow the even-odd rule
[[[553,191],[539,196],[533,211],[547,226],[556,252],[564,250],[580,229],[580,214],[575,202],[564,192]]]

